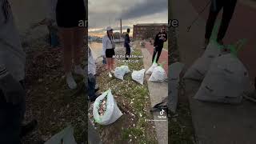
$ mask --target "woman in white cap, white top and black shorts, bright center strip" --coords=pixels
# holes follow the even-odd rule
[[[114,73],[114,41],[113,41],[113,29],[110,26],[106,27],[106,35],[102,38],[102,57],[106,58],[106,69],[110,78]]]

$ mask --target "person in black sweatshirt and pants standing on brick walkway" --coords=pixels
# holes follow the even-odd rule
[[[154,38],[154,54],[152,58],[152,62],[154,62],[154,57],[158,53],[156,62],[158,62],[158,59],[160,58],[160,55],[162,53],[162,47],[163,43],[167,41],[167,33],[165,27],[162,27],[161,31],[155,36]]]

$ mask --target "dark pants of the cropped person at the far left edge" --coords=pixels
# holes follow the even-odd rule
[[[14,94],[18,94],[15,93]],[[25,96],[20,102],[6,102],[6,97],[0,89],[0,143],[19,144],[22,120],[25,114]]]

